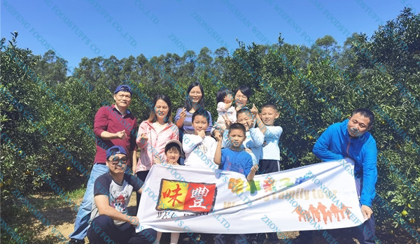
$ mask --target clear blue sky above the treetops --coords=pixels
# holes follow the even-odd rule
[[[207,47],[276,43],[309,45],[331,35],[342,45],[353,32],[372,36],[416,0],[97,1],[1,0],[1,37],[40,55],[54,49],[77,66],[83,57],[146,57]]]

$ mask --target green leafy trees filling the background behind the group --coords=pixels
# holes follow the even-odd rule
[[[4,180],[10,180],[1,188],[5,196],[2,207],[13,201],[9,197],[13,187],[25,193],[48,190],[32,173],[38,166],[66,189],[77,187],[74,182],[85,181],[77,171],[67,169],[71,167],[69,159],[56,148],[64,146],[85,168],[91,167],[94,140],[78,125],[84,123],[92,129],[95,113],[103,101],[113,102],[117,85],[136,85],[130,110],[141,122],[150,113],[144,101],[165,94],[172,99],[175,113],[186,97],[179,91],[199,80],[214,121],[215,95],[222,86],[232,90],[239,85],[250,87],[253,95],[248,106],[255,103],[261,108],[265,103],[276,103],[280,117],[275,124],[283,127],[282,146],[297,156],[294,161],[283,155],[284,169],[319,162],[311,153],[314,137],[330,124],[346,119],[354,108],[370,108],[376,116],[370,133],[377,148],[401,173],[379,160],[377,192],[386,192],[387,201],[396,206],[410,204],[409,215],[418,218],[420,199],[412,189],[420,189],[420,152],[414,147],[414,143],[420,143],[420,109],[415,102],[420,99],[419,33],[419,15],[405,9],[395,20],[379,27],[372,38],[353,34],[343,47],[328,35],[318,38],[317,46],[306,47],[284,43],[279,34],[279,43],[271,46],[238,41],[231,54],[223,47],[214,52],[204,47],[198,55],[187,50],[182,57],[167,53],[149,59],[144,55],[120,60],[112,55],[109,59],[83,58],[71,70],[74,76],[67,76],[67,63],[55,52],[34,56],[31,50],[18,48],[18,34],[13,33],[10,41],[1,39],[1,45],[8,43],[8,51],[3,48],[0,53],[0,80],[23,110],[1,94],[0,129],[25,150],[27,157],[21,159],[10,145],[2,143],[1,169],[6,172]],[[31,79],[29,70],[45,81],[45,87]],[[86,89],[86,84],[92,89]],[[69,113],[64,113],[63,104],[70,108]],[[24,110],[34,122],[45,126],[47,136],[39,134],[23,115]],[[297,123],[303,120],[303,125]],[[316,133],[311,134],[312,129]],[[402,175],[408,181],[402,180]],[[391,222],[386,213],[377,216],[379,222]]]

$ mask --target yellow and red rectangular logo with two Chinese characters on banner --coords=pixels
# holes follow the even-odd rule
[[[216,201],[216,184],[162,179],[156,210],[208,213]]]

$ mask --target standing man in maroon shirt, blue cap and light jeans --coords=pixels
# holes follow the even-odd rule
[[[137,161],[135,151],[137,147],[137,119],[128,110],[131,96],[132,90],[130,86],[119,85],[113,95],[116,103],[99,108],[94,116],[93,131],[95,138],[98,138],[95,141],[97,152],[94,157],[90,178],[87,181],[85,196],[74,223],[74,231],[70,234],[71,240],[69,243],[85,243],[84,238],[92,210],[94,181],[99,175],[109,171],[109,168],[106,166],[106,150],[113,147],[113,145],[120,145],[125,152],[128,152],[127,164],[132,162],[135,164]],[[134,134],[132,131],[134,131]]]

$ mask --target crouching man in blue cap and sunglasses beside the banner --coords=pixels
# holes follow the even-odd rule
[[[109,173],[104,173],[94,182],[92,222],[87,229],[87,238],[92,244],[155,241],[154,229],[144,229],[136,233],[135,227],[139,225],[139,219],[127,214],[132,192],[141,193],[141,185],[136,176],[124,173],[127,161],[127,153],[119,145],[106,151]]]

